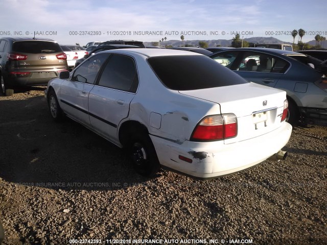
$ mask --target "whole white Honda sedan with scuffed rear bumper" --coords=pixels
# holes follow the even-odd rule
[[[129,149],[145,176],[162,166],[210,179],[285,159],[292,132],[285,91],[186,51],[101,52],[52,79],[45,96],[56,121],[66,115]]]

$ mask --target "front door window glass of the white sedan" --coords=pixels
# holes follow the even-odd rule
[[[94,84],[98,72],[108,56],[109,54],[91,56],[83,64],[75,69],[72,80],[82,83]]]

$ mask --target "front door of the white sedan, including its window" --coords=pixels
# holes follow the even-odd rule
[[[99,54],[88,58],[76,68],[70,80],[63,80],[60,89],[60,106],[73,119],[89,127],[88,96],[94,87],[101,66],[109,54]]]

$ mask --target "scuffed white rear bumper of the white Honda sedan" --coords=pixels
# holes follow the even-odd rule
[[[252,139],[224,144],[191,142],[179,144],[150,135],[159,162],[164,167],[200,179],[212,179],[236,173],[265,161],[289,141],[292,126],[285,122],[280,128]],[[192,163],[179,159],[189,158]]]

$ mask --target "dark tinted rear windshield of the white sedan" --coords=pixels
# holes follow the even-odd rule
[[[157,77],[173,90],[194,90],[248,83],[235,72],[206,56],[148,58]]]

